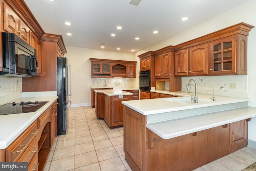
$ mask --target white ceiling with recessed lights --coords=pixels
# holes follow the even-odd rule
[[[102,50],[105,44],[104,50],[134,53],[248,0],[141,0],[138,6],[130,0],[24,1],[44,32],[61,34],[66,46]]]

